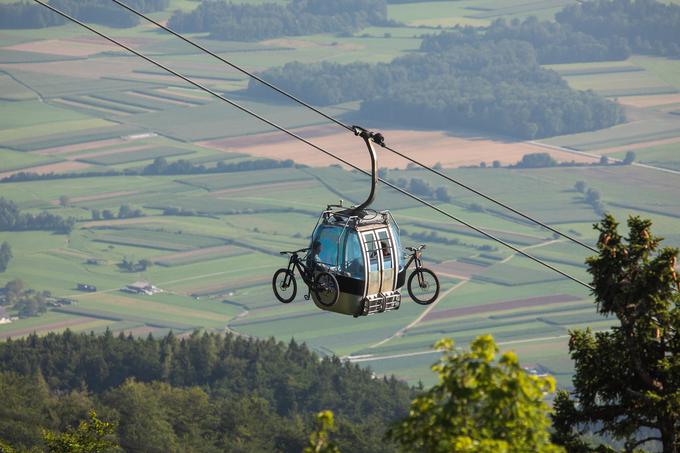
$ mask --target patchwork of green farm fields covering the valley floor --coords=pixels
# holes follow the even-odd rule
[[[403,25],[370,27],[343,36],[319,34],[256,43],[192,37],[254,71],[291,61],[381,63],[418,49],[421,36],[438,33],[437,27],[485,25],[501,17],[530,14],[549,19],[570,3],[574,1],[391,4],[390,19]],[[174,9],[187,11],[197,5],[190,0],[172,0],[168,11],[154,13],[153,17],[166,20]],[[178,71],[285,127],[326,124],[319,116],[289,103],[244,99],[241,90],[246,79],[241,73],[146,25],[100,28],[130,39],[135,48],[150,55],[162,56]],[[42,39],[62,39],[61,45],[67,46],[71,42],[68,39],[85,37],[89,37],[86,31],[71,25],[0,33],[6,46]],[[196,142],[245,138],[272,130],[123,53],[70,58],[5,49],[0,52],[0,64],[0,172],[30,171],[62,161],[66,165],[69,161],[92,164],[85,170],[140,169],[161,156],[168,161],[182,158],[212,167],[222,160],[231,163],[253,157],[237,147],[222,153]],[[672,113],[678,110],[677,99],[672,97],[680,90],[678,64],[675,60],[633,56],[622,62],[550,66],[573,87],[594,89],[612,100],[668,93],[669,102],[663,108],[658,107],[663,102],[650,108],[628,106],[627,123],[545,142],[584,151],[623,147],[611,150],[613,157],[623,157],[625,147],[635,145],[638,162],[680,170],[677,144],[645,145],[680,137],[680,117]],[[324,112],[350,122],[358,108],[358,103],[350,103],[326,107]],[[0,338],[66,328],[94,332],[110,328],[135,335],[229,329],[282,341],[294,337],[322,355],[367,355],[357,363],[379,374],[394,373],[414,384],[429,384],[434,379],[429,365],[437,357],[430,346],[437,339],[451,336],[457,345],[464,346],[477,335],[492,333],[501,348],[517,351],[523,364],[546,367],[560,386],[568,386],[573,373],[566,343],[568,330],[586,326],[604,330],[611,324],[611,320],[597,315],[589,291],[577,283],[385,188],[379,190],[374,207],[392,211],[403,230],[403,245],[427,243],[426,266],[473,266],[472,276],[440,275],[442,292],[437,305],[405,331],[401,329],[424,310],[409,300],[405,290],[398,311],[368,318],[353,319],[318,310],[303,299],[306,288],[301,280],[297,299],[280,304],[271,290],[272,273],[287,263],[279,252],[309,245],[319,212],[326,204],[339,199],[346,204],[358,203],[368,187],[364,175],[337,167],[306,167],[304,158],[296,164],[231,173],[0,184],[0,196],[13,200],[23,210],[48,210],[78,219],[68,235],[0,232],[0,242],[7,241],[14,255],[7,271],[0,274],[0,286],[21,278],[28,287],[75,301],[41,317],[2,325]],[[443,171],[593,245],[597,234],[592,224],[598,216],[574,190],[577,181],[584,181],[600,193],[604,208],[621,221],[642,213],[653,220],[655,233],[666,237],[668,245],[680,245],[680,186],[674,173],[615,165]],[[591,251],[555,240],[549,231],[457,186],[447,186],[432,173],[390,169],[388,175],[392,180],[421,178],[433,187],[446,186],[450,202],[428,201],[588,280],[584,260]],[[61,196],[68,197],[68,206],[59,205]],[[94,210],[110,210],[115,216],[124,204],[141,209],[144,216],[93,220]],[[166,208],[181,208],[187,215],[163,215]],[[437,236],[431,241],[419,239],[433,232]],[[127,272],[120,266],[123,260],[149,260],[152,265],[144,271]],[[125,285],[142,280],[163,292],[142,296],[121,291]],[[78,283],[95,285],[97,291],[79,292]],[[564,300],[550,302],[549,298],[556,295]],[[527,305],[532,298],[546,299]]]

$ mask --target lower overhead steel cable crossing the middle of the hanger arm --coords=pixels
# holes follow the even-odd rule
[[[68,19],[68,20],[70,20],[70,21],[72,21],[72,22],[74,22],[74,23],[80,25],[81,27],[86,28],[87,30],[91,31],[92,33],[96,34],[97,36],[106,39],[107,41],[109,41],[109,42],[111,42],[111,43],[113,43],[113,44],[115,44],[115,45],[117,45],[117,46],[119,46],[119,47],[121,47],[121,48],[127,50],[128,52],[130,52],[130,53],[132,53],[132,54],[134,54],[134,55],[136,55],[136,56],[142,58],[143,60],[145,60],[145,61],[147,61],[147,62],[149,62],[149,63],[151,63],[151,64],[153,64],[153,65],[155,65],[155,66],[157,66],[157,67],[159,67],[159,68],[161,68],[161,69],[163,69],[164,71],[167,71],[168,73],[170,73],[170,74],[172,74],[172,75],[174,75],[174,76],[176,76],[176,77],[178,77],[178,78],[184,80],[185,82],[187,82],[187,83],[189,83],[189,84],[195,86],[196,88],[198,88],[198,89],[200,89],[200,90],[203,90],[203,91],[205,91],[206,93],[211,94],[212,96],[214,96],[214,97],[216,97],[216,98],[222,100],[223,102],[228,103],[228,104],[231,105],[232,107],[235,107],[235,108],[241,110],[242,112],[247,113],[248,115],[251,115],[251,116],[253,116],[254,118],[257,118],[257,119],[259,119],[260,121],[262,121],[262,122],[264,122],[264,123],[266,123],[266,124],[268,124],[268,125],[274,127],[275,129],[278,129],[279,131],[281,131],[281,132],[283,132],[283,133],[285,133],[285,134],[287,134],[287,135],[289,135],[289,136],[291,136],[291,137],[293,137],[293,138],[295,138],[295,139],[297,139],[297,140],[299,140],[299,141],[301,141],[301,142],[307,144],[308,146],[310,146],[310,147],[312,147],[312,148],[314,148],[314,149],[316,149],[316,150],[318,150],[318,151],[321,151],[322,153],[326,154],[327,156],[332,157],[332,158],[334,158],[334,159],[336,159],[336,160],[342,162],[343,164],[347,165],[348,167],[353,168],[353,169],[355,169],[355,170],[357,170],[357,171],[359,171],[359,172],[361,172],[361,173],[363,173],[363,174],[365,174],[365,175],[367,175],[367,176],[370,176],[370,174],[369,174],[366,170],[363,170],[362,168],[357,167],[356,165],[354,165],[354,164],[348,162],[347,160],[345,160],[345,159],[343,159],[343,158],[341,158],[341,157],[339,157],[339,156],[336,156],[335,154],[331,153],[330,151],[327,151],[327,150],[321,148],[320,146],[315,145],[314,143],[310,142],[309,140],[307,140],[307,139],[305,139],[305,138],[303,138],[303,137],[300,137],[299,135],[297,135],[296,133],[294,133],[294,132],[292,132],[292,131],[286,129],[285,127],[280,126],[280,125],[274,123],[273,121],[268,120],[267,118],[265,118],[265,117],[263,117],[263,116],[261,116],[261,115],[255,113],[255,112],[251,111],[250,109],[248,109],[248,108],[246,108],[246,107],[244,107],[244,106],[242,106],[242,105],[240,105],[240,104],[238,104],[238,103],[236,103],[236,102],[234,102],[234,101],[232,101],[232,100],[230,100],[230,99],[228,99],[228,98],[222,96],[222,95],[219,94],[219,93],[216,93],[215,91],[211,90],[210,88],[208,88],[208,87],[206,87],[206,86],[204,86],[204,85],[202,85],[202,84],[200,84],[200,83],[198,83],[198,82],[196,82],[196,81],[194,81],[194,80],[192,80],[192,79],[190,79],[190,78],[188,78],[188,77],[186,77],[186,76],[184,76],[184,75],[182,75],[182,74],[176,72],[175,70],[168,68],[167,66],[163,65],[162,63],[159,63],[159,62],[155,61],[154,59],[152,59],[152,58],[150,58],[150,57],[147,57],[146,55],[144,55],[144,54],[142,54],[142,53],[140,53],[140,52],[138,52],[138,51],[136,51],[136,50],[134,50],[134,49],[132,49],[132,48],[130,48],[130,47],[128,47],[128,46],[126,46],[125,44],[121,43],[120,41],[117,41],[116,39],[111,38],[111,37],[105,35],[104,33],[102,33],[102,32],[100,32],[100,31],[96,30],[95,28],[92,28],[92,27],[90,27],[89,25],[87,25],[87,24],[85,24],[85,23],[79,21],[78,19],[76,19],[76,18],[74,18],[74,17],[71,17],[71,16],[69,16],[68,14],[66,14],[66,13],[64,13],[64,12],[62,12],[62,11],[60,11],[59,9],[57,9],[57,8],[55,8],[55,7],[53,7],[53,6],[49,5],[49,4],[47,4],[47,3],[44,3],[44,2],[42,2],[41,0],[33,0],[33,1],[36,2],[36,3],[39,3],[39,4],[41,4],[41,5],[43,5],[44,7],[50,9],[51,11],[55,12],[56,14],[59,14],[60,16],[64,17],[65,19]],[[491,240],[493,240],[493,241],[496,241],[496,242],[498,242],[499,244],[502,244],[502,245],[508,247],[509,249],[515,251],[516,253],[519,253],[520,255],[523,255],[523,256],[525,256],[526,258],[529,258],[530,260],[533,260],[533,261],[535,261],[536,263],[541,264],[542,266],[545,266],[545,267],[547,267],[548,269],[551,269],[551,270],[554,271],[554,272],[557,272],[558,274],[562,275],[563,277],[566,277],[566,278],[568,278],[568,279],[570,279],[570,280],[572,280],[572,281],[574,281],[574,282],[576,282],[576,283],[578,283],[578,284],[580,284],[580,285],[582,285],[582,286],[584,286],[584,287],[586,287],[586,288],[588,288],[588,289],[590,289],[590,290],[594,290],[594,288],[593,288],[592,286],[590,286],[589,284],[587,284],[587,283],[585,283],[585,282],[583,282],[583,281],[577,279],[576,277],[573,277],[572,275],[567,274],[566,272],[564,272],[564,271],[562,271],[562,270],[560,270],[560,269],[558,269],[558,268],[556,268],[556,267],[554,267],[554,266],[552,266],[552,265],[550,265],[550,264],[544,262],[543,260],[541,260],[541,259],[539,259],[539,258],[536,258],[536,257],[534,257],[534,256],[532,256],[532,255],[526,253],[525,251],[523,251],[523,250],[521,250],[521,249],[519,249],[519,248],[513,246],[512,244],[509,244],[509,243],[505,242],[504,240],[502,240],[502,239],[500,239],[500,238],[497,238],[496,236],[494,236],[494,235],[492,235],[491,233],[488,233],[488,232],[482,230],[481,228],[478,228],[478,227],[476,227],[476,226],[474,226],[474,225],[472,225],[472,224],[470,224],[470,223],[468,223],[468,222],[465,222],[464,220],[461,220],[461,219],[455,217],[454,215],[452,215],[452,214],[450,214],[450,213],[444,211],[443,209],[441,209],[441,208],[439,208],[439,207],[433,205],[432,203],[429,203],[428,201],[425,201],[425,200],[423,200],[422,198],[420,198],[420,197],[418,197],[418,196],[416,196],[416,195],[413,195],[412,193],[407,192],[406,190],[404,190],[404,189],[402,189],[402,188],[400,188],[400,187],[397,187],[396,185],[390,183],[389,181],[385,181],[385,180],[382,179],[382,178],[378,178],[378,180],[379,180],[380,182],[382,182],[383,184],[385,184],[386,186],[391,187],[392,189],[394,189],[394,190],[396,190],[396,191],[398,191],[398,192],[400,192],[400,193],[402,193],[402,194],[404,194],[404,195],[406,195],[406,196],[408,196],[408,197],[410,197],[410,198],[412,198],[412,199],[418,201],[419,203],[422,203],[423,205],[428,206],[428,207],[434,209],[435,211],[439,212],[440,214],[443,214],[444,216],[446,216],[446,217],[448,217],[448,218],[450,218],[450,219],[452,219],[452,220],[454,220],[454,221],[456,221],[456,222],[459,222],[459,223],[462,224],[462,225],[465,225],[466,227],[468,227],[468,228],[470,228],[470,229],[472,229],[472,230],[478,232],[479,234],[481,234],[481,235],[483,235],[483,236],[485,236],[485,237],[487,237],[487,238],[489,238],[489,239],[491,239]]]

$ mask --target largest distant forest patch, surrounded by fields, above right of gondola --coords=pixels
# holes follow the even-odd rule
[[[409,127],[473,127],[524,139],[623,121],[621,108],[542,68],[531,44],[482,41],[389,64],[289,63],[262,77],[317,105],[363,100],[360,115]],[[266,96],[252,82],[248,92]]]

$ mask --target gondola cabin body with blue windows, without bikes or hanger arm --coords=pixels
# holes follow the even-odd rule
[[[339,295],[331,305],[311,292],[317,307],[353,316],[399,308],[404,259],[399,229],[389,211],[329,206],[312,234],[307,259],[314,272],[326,271],[338,282]]]

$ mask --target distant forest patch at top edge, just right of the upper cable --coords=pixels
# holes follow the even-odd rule
[[[210,1],[191,12],[175,12],[168,23],[178,32],[209,32],[213,39],[231,41],[351,33],[388,24],[384,0],[292,0],[286,5]]]

